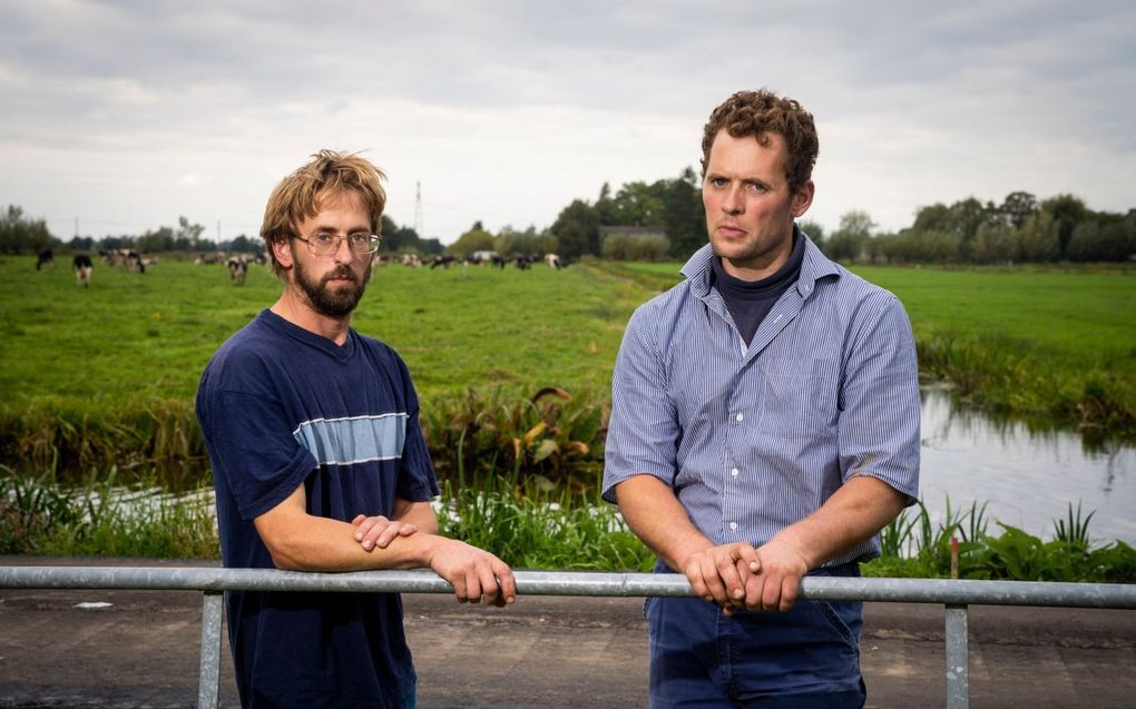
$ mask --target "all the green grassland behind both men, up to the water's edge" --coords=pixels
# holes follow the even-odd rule
[[[62,456],[65,465],[115,462],[119,448],[144,450],[143,462],[200,459],[192,399],[201,370],[225,338],[275,301],[278,281],[264,268],[235,287],[216,265],[168,261],[134,275],[100,263],[83,289],[59,261],[37,272],[30,256],[0,260],[0,463],[52,466],[67,446],[77,450]],[[354,326],[407,360],[426,415],[445,412],[436,430],[507,408],[499,398],[462,399],[469,389],[529,397],[559,387],[602,407],[628,316],[677,282],[678,268],[386,267],[376,270]],[[1136,276],[857,271],[904,302],[928,378],[951,380],[989,411],[1136,439]],[[499,431],[484,451],[529,440],[523,427],[537,419],[521,408],[499,416],[521,428]],[[544,413],[556,428],[556,413]],[[457,439],[445,440],[453,447]],[[560,440],[557,451],[570,442]],[[534,446],[542,445],[551,444],[537,437]],[[549,451],[541,450],[534,455]]]

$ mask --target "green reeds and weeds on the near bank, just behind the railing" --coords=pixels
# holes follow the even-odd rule
[[[516,568],[650,571],[654,555],[593,488],[579,492],[533,478],[482,476],[467,484],[461,467],[443,482],[442,533],[491,549]],[[0,469],[0,554],[217,558],[209,490],[169,496],[153,487],[116,488],[115,471],[65,488]],[[867,576],[947,577],[958,537],[963,579],[1136,583],[1136,549],[1113,541],[1092,547],[1088,523],[1069,508],[1051,541],[999,524],[986,531],[985,506],[932,521],[922,504],[882,535],[884,555]]]

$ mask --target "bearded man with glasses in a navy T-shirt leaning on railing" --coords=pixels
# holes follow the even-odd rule
[[[370,279],[383,174],[321,151],[273,191],[260,235],[279,299],[210,360],[197,413],[226,567],[428,567],[458,600],[513,602],[498,557],[437,534],[438,493],[406,364],[351,329]],[[395,593],[226,594],[244,707],[412,707]]]

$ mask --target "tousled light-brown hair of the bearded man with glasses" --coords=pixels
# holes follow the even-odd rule
[[[268,196],[260,238],[268,248],[273,273],[284,278],[273,244],[294,237],[298,225],[319,213],[325,196],[356,194],[370,212],[370,233],[382,234],[386,175],[358,153],[321,150],[307,164],[282,179]]]

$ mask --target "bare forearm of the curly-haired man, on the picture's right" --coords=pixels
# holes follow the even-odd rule
[[[855,476],[815,513],[774,535],[767,546],[786,546],[817,568],[871,539],[894,520],[904,497],[886,482]]]

